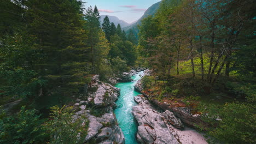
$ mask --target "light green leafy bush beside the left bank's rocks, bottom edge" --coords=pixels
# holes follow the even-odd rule
[[[50,121],[45,124],[50,136],[50,143],[83,143],[88,130],[85,117],[74,118],[72,107],[51,107]]]

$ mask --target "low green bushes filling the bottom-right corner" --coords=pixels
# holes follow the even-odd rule
[[[207,115],[204,120],[216,128],[207,134],[226,143],[255,143],[255,105],[226,103],[222,106],[201,105],[200,110]],[[218,120],[216,120],[218,119]]]

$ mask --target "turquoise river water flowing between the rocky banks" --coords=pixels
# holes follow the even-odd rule
[[[143,71],[132,76],[132,82],[122,82],[115,85],[121,89],[120,96],[115,102],[117,109],[114,110],[115,116],[117,117],[120,128],[122,129],[125,137],[125,144],[137,144],[137,122],[132,115],[132,106],[137,105],[133,97],[137,96],[138,92],[134,90],[136,82],[141,79]]]

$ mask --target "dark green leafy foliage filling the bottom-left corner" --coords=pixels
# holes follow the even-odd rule
[[[21,107],[15,115],[0,113],[0,143],[43,143],[48,134],[43,127],[43,119],[39,119],[36,110]]]

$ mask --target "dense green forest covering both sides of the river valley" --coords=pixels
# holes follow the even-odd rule
[[[203,116],[209,143],[256,142],[255,1],[162,0],[138,35],[78,0],[1,0],[0,12],[0,143],[83,143],[75,99],[94,75],[135,67],[150,71],[150,100]]]

